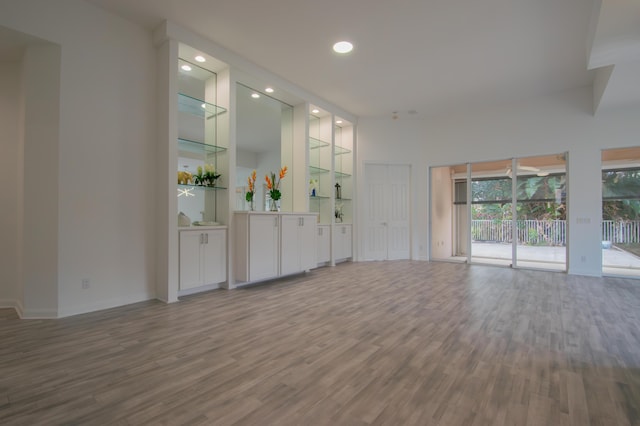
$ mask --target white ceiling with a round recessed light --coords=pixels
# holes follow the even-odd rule
[[[591,86],[611,65],[599,109],[640,105],[638,0],[86,1],[172,21],[361,117]],[[340,39],[351,54],[331,51]]]

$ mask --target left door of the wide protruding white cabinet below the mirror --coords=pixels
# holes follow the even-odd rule
[[[249,217],[249,281],[278,276],[278,216]]]

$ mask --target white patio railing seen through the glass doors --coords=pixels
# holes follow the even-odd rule
[[[512,240],[511,220],[472,220],[473,241],[508,243]],[[564,220],[517,220],[518,242],[528,245],[564,246],[567,223]],[[640,243],[640,221],[602,222],[602,240],[612,243]]]

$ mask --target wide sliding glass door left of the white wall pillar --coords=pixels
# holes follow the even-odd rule
[[[566,270],[565,164],[558,154],[432,168],[430,258]]]

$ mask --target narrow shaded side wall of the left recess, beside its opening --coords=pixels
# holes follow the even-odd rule
[[[55,317],[59,306],[60,46],[28,46],[22,64],[24,316]]]

